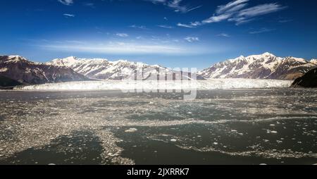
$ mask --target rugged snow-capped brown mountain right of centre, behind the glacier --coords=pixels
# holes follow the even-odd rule
[[[312,61],[311,61],[312,62]],[[216,63],[198,74],[204,78],[251,78],[294,80],[317,64],[304,58],[277,57],[270,53],[252,56],[240,56],[221,63]]]

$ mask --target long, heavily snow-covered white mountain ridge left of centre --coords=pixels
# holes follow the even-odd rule
[[[108,61],[102,58],[76,58],[70,56],[68,58],[57,58],[53,61],[46,63],[54,66],[66,66],[72,68],[77,73],[87,76],[92,79],[99,80],[123,80],[133,79],[135,77],[139,80],[146,80],[155,78],[158,75],[165,77],[165,75],[173,75],[173,79],[190,79],[191,74],[176,72],[159,65],[151,66],[145,63],[135,63],[131,61]],[[172,74],[173,73],[173,74]],[[199,78],[200,80],[204,78]]]

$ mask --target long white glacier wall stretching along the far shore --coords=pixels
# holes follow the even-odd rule
[[[183,81],[134,81],[134,80],[99,80],[84,82],[46,83],[15,87],[14,90],[230,90],[230,89],[265,89],[290,87],[292,80],[253,80],[253,79],[209,79]]]

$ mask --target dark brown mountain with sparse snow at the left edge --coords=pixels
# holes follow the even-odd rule
[[[22,56],[0,56],[0,75],[23,84],[89,80],[65,66],[49,66]]]

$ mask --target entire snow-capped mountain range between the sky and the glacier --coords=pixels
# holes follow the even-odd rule
[[[270,53],[240,56],[216,63],[197,73],[199,80],[209,78],[250,78],[295,80],[317,68],[317,60],[277,57]],[[139,73],[142,74],[139,74]],[[9,84],[42,84],[83,80],[123,80],[141,75],[141,80],[173,75],[173,79],[191,80],[192,74],[170,70],[159,65],[131,61],[108,61],[102,58],[56,58],[47,63],[35,63],[22,56],[0,56],[0,80]],[[154,79],[155,79],[154,78]],[[156,80],[156,79],[155,79]],[[0,82],[1,86],[1,82]]]

